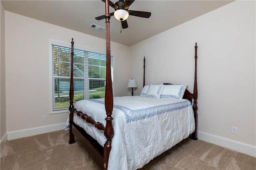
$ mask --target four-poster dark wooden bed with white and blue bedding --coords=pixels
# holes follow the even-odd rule
[[[161,94],[158,94],[157,99],[150,95],[113,98],[108,0],[105,3],[105,10],[106,90],[104,99],[78,101],[74,107],[73,39],[71,42],[69,144],[75,142],[74,136],[82,140],[81,143],[102,169],[141,168],[152,158],[187,138],[191,133],[191,138],[197,140],[197,45],[195,46],[194,93],[185,90],[181,99],[160,98]],[[152,87],[157,86],[163,91],[168,85],[167,83],[152,84]],[[143,86],[145,86],[145,69]],[[144,100],[142,106],[140,98]],[[194,99],[193,106],[192,99]]]

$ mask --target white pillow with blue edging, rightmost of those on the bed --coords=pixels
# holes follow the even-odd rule
[[[170,98],[174,98],[174,99],[182,99],[186,88],[187,88],[187,84],[165,85],[164,90],[161,94],[161,97],[170,97]]]

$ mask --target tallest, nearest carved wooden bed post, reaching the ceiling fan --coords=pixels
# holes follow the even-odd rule
[[[108,168],[108,158],[111,150],[112,137],[114,136],[114,128],[112,126],[112,111],[113,111],[113,91],[112,91],[112,79],[111,79],[111,61],[110,61],[110,14],[109,14],[109,2],[105,2],[105,19],[106,19],[106,89],[105,89],[105,109],[106,109],[106,127],[104,135],[106,136],[106,142],[104,144],[104,158],[103,167]]]

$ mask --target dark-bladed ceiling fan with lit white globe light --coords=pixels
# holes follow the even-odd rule
[[[102,0],[105,2],[106,0]],[[129,15],[138,16],[142,18],[149,18],[151,16],[151,12],[144,12],[144,11],[132,11],[128,10],[130,5],[134,2],[134,0],[119,0],[115,4],[109,0],[109,6],[115,9],[115,12],[110,13],[110,16],[115,16],[117,20],[121,21],[122,28],[128,28],[128,24],[126,19]],[[96,20],[102,20],[105,18],[105,15],[98,16]]]

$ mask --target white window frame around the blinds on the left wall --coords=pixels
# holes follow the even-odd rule
[[[54,99],[53,99],[53,65],[52,65],[52,45],[58,45],[58,46],[63,46],[63,47],[68,47],[68,48],[71,48],[71,43],[67,43],[67,42],[62,42],[62,41],[58,41],[58,40],[53,40],[53,39],[50,39],[49,41],[49,65],[50,65],[50,114],[56,114],[56,113],[69,113],[69,110],[68,109],[60,109],[60,110],[54,110],[53,109],[53,102],[54,102]],[[106,55],[106,51],[103,51],[103,50],[100,50],[100,49],[94,49],[94,48],[90,48],[90,47],[84,47],[82,45],[76,45],[74,44],[74,49],[78,49],[78,50],[82,50],[82,51],[89,51],[89,52],[92,52],[92,53],[100,53],[100,54],[103,54],[103,55]],[[113,77],[112,77],[112,80],[113,80],[113,83],[112,83],[112,87],[113,87],[113,95],[114,95],[114,65],[115,65],[115,55],[114,53],[110,53],[110,55],[113,57]],[[70,79],[70,76],[69,76],[69,79]],[[88,80],[89,81],[89,80]]]

